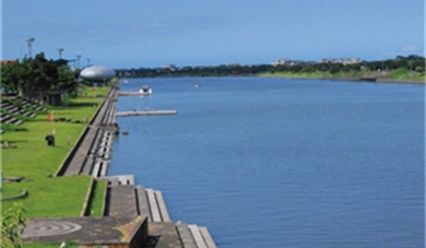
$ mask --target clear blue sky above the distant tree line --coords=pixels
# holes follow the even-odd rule
[[[424,55],[424,0],[3,0],[2,58],[81,66],[258,64]]]

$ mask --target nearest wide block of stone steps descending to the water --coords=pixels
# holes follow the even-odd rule
[[[105,216],[147,216],[147,247],[216,248],[206,227],[170,220],[162,191],[134,187],[132,175],[98,179],[108,184]]]

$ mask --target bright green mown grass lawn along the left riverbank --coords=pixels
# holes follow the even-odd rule
[[[102,98],[96,97],[96,94],[106,95],[108,91],[109,87],[98,87],[93,92],[87,87],[83,96],[70,99],[68,106],[48,107],[48,113],[54,113],[56,119],[66,118],[84,122],[85,119],[90,120],[94,116],[97,106],[102,103]],[[72,121],[48,121],[48,113],[39,113],[37,117],[20,126],[1,127],[5,130],[1,140],[16,146],[16,149],[1,150],[3,177],[25,177],[21,182],[4,182],[2,194],[10,197],[21,193],[23,189],[28,191],[28,196],[22,200],[2,201],[2,213],[13,202],[23,203],[27,217],[78,216],[83,208],[91,177],[48,177],[47,175],[55,175],[71,151],[68,146],[68,137],[71,138],[71,143],[75,143],[85,125]],[[52,132],[56,133],[56,145],[48,146],[45,137]]]

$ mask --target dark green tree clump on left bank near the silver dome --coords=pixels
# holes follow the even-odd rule
[[[3,94],[26,96],[37,93],[44,99],[47,91],[63,91],[76,95],[80,71],[67,67],[67,60],[48,60],[44,52],[22,61],[1,66]]]

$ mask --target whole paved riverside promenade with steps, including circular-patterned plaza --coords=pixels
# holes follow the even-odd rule
[[[133,175],[106,176],[113,144],[119,134],[116,106],[119,84],[104,96],[97,113],[79,138],[56,176],[92,176],[106,180],[103,216],[88,215],[93,185],[80,217],[35,219],[25,241],[73,241],[86,247],[216,248],[206,227],[174,223],[159,190],[134,185]]]

